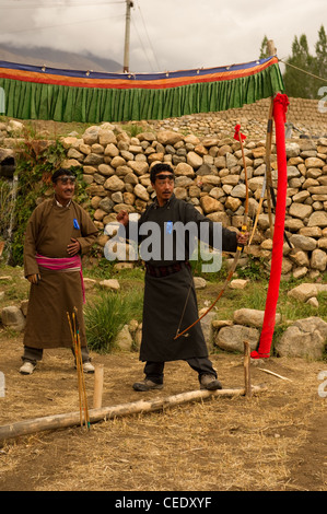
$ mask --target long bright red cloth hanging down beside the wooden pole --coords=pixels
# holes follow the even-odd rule
[[[276,323],[276,307],[279,296],[279,285],[283,258],[283,234],[285,224],[288,166],[285,150],[285,129],[289,98],[285,94],[278,94],[273,100],[273,119],[276,127],[276,148],[278,165],[277,200],[275,211],[275,232],[272,238],[272,256],[270,279],[266,300],[264,325],[259,347],[250,353],[253,359],[270,357],[270,347]]]

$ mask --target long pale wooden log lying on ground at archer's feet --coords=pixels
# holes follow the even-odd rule
[[[253,393],[259,393],[265,388],[260,386],[253,386]],[[162,410],[167,407],[186,404],[189,401],[201,400],[210,397],[235,397],[244,396],[245,389],[219,389],[219,390],[190,390],[180,393],[179,395],[167,396],[156,399],[142,399],[130,404],[120,404],[112,407],[102,407],[101,409],[89,410],[90,423],[98,421],[106,421],[113,418],[122,416],[153,412]],[[65,429],[68,427],[75,427],[80,424],[80,412],[68,412],[65,414],[46,416],[44,418],[35,418],[32,420],[19,421],[16,423],[0,427],[0,441],[17,437],[20,435],[27,435],[45,430]]]

